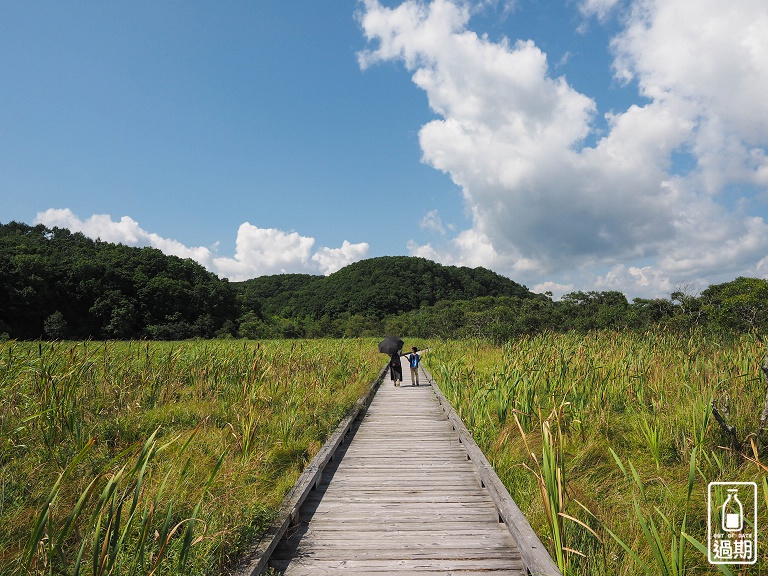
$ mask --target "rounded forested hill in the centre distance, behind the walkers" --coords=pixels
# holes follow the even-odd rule
[[[542,298],[485,268],[443,266],[424,258],[383,256],[362,260],[330,276],[280,274],[233,283],[261,313],[289,318],[340,314],[383,319],[440,301],[483,296]]]

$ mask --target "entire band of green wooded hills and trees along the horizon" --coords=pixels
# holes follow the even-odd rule
[[[228,282],[191,259],[81,233],[0,224],[0,336],[15,339],[481,337],[596,329],[763,332],[768,281],[629,302],[617,291],[534,294],[485,268],[380,257],[330,276]]]

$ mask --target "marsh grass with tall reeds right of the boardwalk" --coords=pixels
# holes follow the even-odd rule
[[[515,501],[568,575],[729,573],[708,564],[707,484],[761,487],[765,450],[734,451],[710,418],[756,431],[764,344],[664,332],[541,334],[504,346],[446,342],[425,358]]]

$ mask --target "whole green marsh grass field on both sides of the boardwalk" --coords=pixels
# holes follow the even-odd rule
[[[566,574],[719,573],[710,481],[757,483],[760,560],[723,573],[768,573],[756,339],[429,344]],[[0,343],[0,574],[225,572],[385,361],[376,340]]]

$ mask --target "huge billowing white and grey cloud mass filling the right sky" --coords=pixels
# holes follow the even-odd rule
[[[604,18],[617,4],[580,7]],[[360,65],[395,60],[412,73],[440,117],[419,132],[423,161],[461,187],[472,215],[471,230],[412,254],[653,295],[671,277],[753,271],[768,251],[750,194],[734,191],[757,196],[768,184],[762,0],[630,2],[614,66],[645,100],[606,114],[594,146],[595,102],[553,76],[532,41],[478,36],[459,0],[364,6]]]

